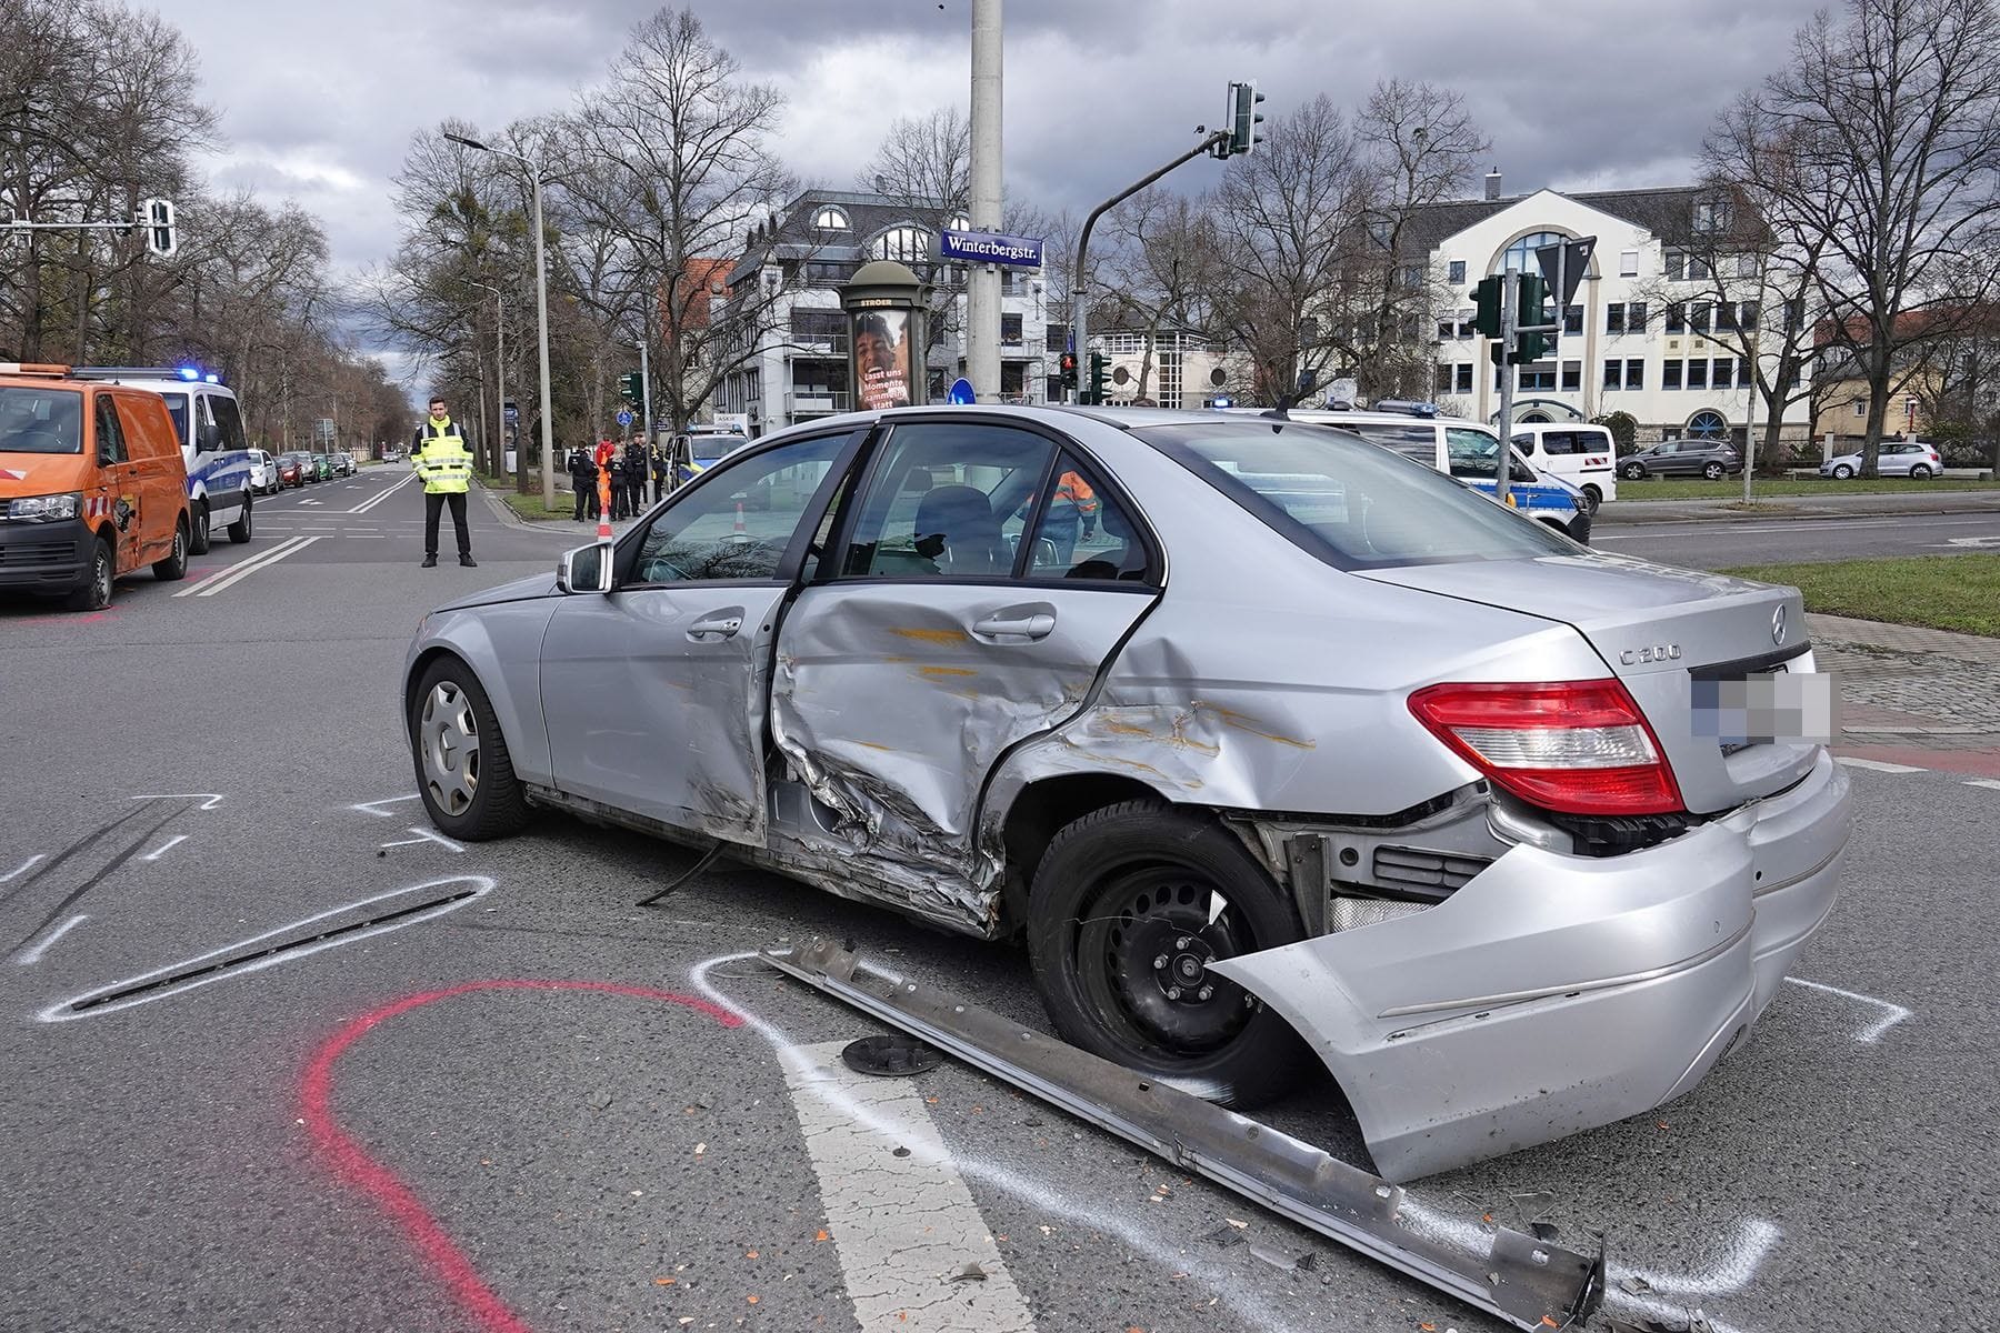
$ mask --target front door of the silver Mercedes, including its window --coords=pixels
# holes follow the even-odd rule
[[[706,474],[620,542],[612,592],[562,600],[542,638],[556,787],[764,843],[776,610],[850,440],[792,440]]]

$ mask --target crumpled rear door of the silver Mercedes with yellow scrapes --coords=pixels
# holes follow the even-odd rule
[[[778,833],[838,855],[838,891],[992,933],[988,773],[1082,707],[1158,548],[1068,440],[990,416],[896,422],[834,546],[778,636],[772,735],[814,807]]]

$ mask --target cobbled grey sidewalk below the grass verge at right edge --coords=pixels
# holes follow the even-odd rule
[[[1806,614],[1846,755],[2000,777],[2000,640]]]

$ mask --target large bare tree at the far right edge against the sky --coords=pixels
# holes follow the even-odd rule
[[[1868,384],[1874,476],[1898,366],[1994,284],[2000,16],[1990,0],[1848,0],[1800,28],[1738,114],[1782,152],[1724,136],[1718,166],[1780,236],[1824,236],[1814,288],[1826,336]]]

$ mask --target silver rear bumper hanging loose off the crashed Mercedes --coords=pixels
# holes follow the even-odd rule
[[[1638,1115],[1744,1035],[1834,905],[1852,827],[1790,791],[1620,857],[1518,845],[1414,915],[1214,971],[1282,1013],[1412,1179]]]

